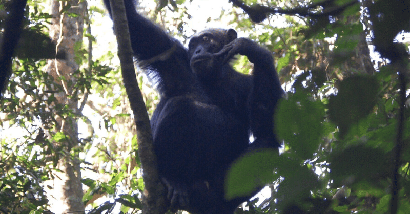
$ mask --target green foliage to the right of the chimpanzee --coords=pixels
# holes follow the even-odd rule
[[[271,5],[280,5],[273,2]],[[366,10],[360,14],[365,4],[368,2],[363,1],[362,8],[357,4],[334,16],[311,18],[305,28],[292,27],[298,26],[301,20],[292,23],[289,18],[291,27],[272,31],[273,51],[276,53],[278,48],[282,51],[278,59],[280,77],[285,83],[293,80],[288,98],[279,104],[275,116],[275,130],[284,140],[283,152],[278,157],[264,151],[247,154],[243,159],[257,161],[232,166],[227,181],[230,197],[260,186],[255,181],[269,180],[274,184],[271,193],[276,200],[253,203],[255,212],[386,213],[393,194],[394,162],[400,161],[397,213],[406,212],[409,206],[405,159],[408,134],[403,136],[401,160],[395,160],[393,154],[398,123],[404,119],[404,130],[408,130],[410,111],[403,104],[404,117],[398,114],[401,90],[398,90],[397,67],[388,63],[356,66],[357,60],[363,61],[365,57],[357,53],[369,56],[360,38],[370,41],[373,27],[363,17],[367,15]],[[382,4],[390,3],[380,0],[376,7]],[[401,16],[398,11],[394,11],[395,17],[408,15]],[[383,13],[386,17],[393,14],[384,8],[381,15]],[[408,22],[408,18],[405,19]],[[275,31],[281,35],[275,35]],[[401,31],[407,31],[407,26],[395,29],[394,36]],[[308,40],[293,38],[293,35],[304,35]],[[265,37],[256,38],[265,40]],[[333,39],[333,43],[329,42]],[[292,44],[292,48],[285,48],[286,44]],[[283,66],[283,61],[288,62],[288,68]],[[402,63],[407,70],[408,59]],[[270,164],[261,164],[264,160]],[[247,170],[242,174],[233,173],[240,168]],[[263,176],[272,170],[276,176]],[[246,175],[250,172],[253,176]],[[237,189],[239,183],[244,186],[241,190]]]

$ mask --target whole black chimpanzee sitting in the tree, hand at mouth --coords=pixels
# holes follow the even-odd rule
[[[283,90],[272,54],[237,38],[233,29],[195,34],[187,50],[139,15],[133,0],[125,7],[135,57],[161,96],[151,128],[171,206],[194,214],[232,213],[252,196],[224,199],[230,164],[250,149],[280,146],[273,114]],[[252,75],[229,65],[236,54],[254,64]]]

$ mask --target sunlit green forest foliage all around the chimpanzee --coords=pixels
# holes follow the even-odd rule
[[[146,2],[141,1],[140,7],[149,7]],[[242,9],[229,5],[218,18],[228,20],[229,27],[272,51],[288,92],[275,114],[275,132],[284,142],[281,154],[266,150],[245,154],[231,167],[227,179],[227,198],[247,194],[266,183],[271,195],[255,198],[236,212],[386,213],[391,207],[392,174],[398,161],[397,213],[406,213],[410,208],[410,133],[406,132],[410,127],[410,110],[407,97],[404,116],[400,117],[403,103],[399,100],[402,90],[398,71],[406,71],[408,79],[407,52],[401,52],[403,47],[408,51],[408,35],[401,35],[405,38],[402,43],[390,41],[397,33],[409,31],[408,25],[403,24],[408,24],[406,10],[397,5],[385,6],[387,0],[375,4],[362,0],[338,13],[320,15],[352,1],[244,2],[276,8],[275,11],[311,7],[309,11],[319,15],[274,13],[255,24]],[[408,5],[407,0],[405,3]],[[186,1],[157,4],[150,8],[149,15],[170,26],[170,33],[183,42],[200,30],[187,24],[194,14],[186,8]],[[40,12],[44,11],[43,4],[29,2],[28,8],[26,17],[30,25],[27,22],[26,28],[47,35],[45,26],[50,15]],[[262,10],[259,6],[253,8]],[[4,10],[1,5],[0,10]],[[378,10],[380,13],[374,12]],[[100,6],[90,6],[88,20],[93,27],[109,26],[98,24],[103,11]],[[374,15],[380,22],[372,22]],[[393,25],[383,27],[389,23]],[[371,51],[375,48],[369,45],[373,30],[377,39],[381,38],[376,40],[375,45],[380,45],[376,50],[389,60]],[[98,40],[94,33],[87,37],[96,42],[94,48],[107,43],[106,38]],[[395,54],[403,54],[399,64],[393,63],[397,58],[389,58],[391,53],[385,52],[386,46],[394,46]],[[53,179],[50,172],[63,153],[82,157],[83,183],[87,186],[83,201],[88,205],[88,213],[119,212],[118,209],[135,213],[141,208],[144,183],[136,153],[135,127],[118,67],[106,66],[115,62],[115,48],[93,57],[88,66],[86,56],[90,50],[84,47],[78,44],[75,50],[82,66],[72,83],[76,88],[73,96],[88,96],[85,109],[89,112],[83,112],[86,116],[72,112],[64,104],[53,105],[63,89],[42,71],[46,61],[22,54],[14,59],[13,75],[0,101],[0,212],[46,212],[48,189],[44,181]],[[252,65],[245,57],[238,57],[233,66],[243,73],[252,73]],[[138,80],[147,110],[152,113],[158,95],[140,71]],[[54,131],[56,116],[82,121],[91,133],[84,131],[81,143],[71,150],[55,146],[53,142],[68,137]],[[401,120],[404,146],[399,151],[400,159],[396,159]]]

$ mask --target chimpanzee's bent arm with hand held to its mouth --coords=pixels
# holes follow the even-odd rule
[[[253,84],[248,100],[251,131],[255,137],[254,147],[280,147],[273,131],[273,115],[284,92],[276,73],[272,54],[247,38],[237,38],[224,46],[215,56],[227,61],[235,54],[245,55],[254,64]]]

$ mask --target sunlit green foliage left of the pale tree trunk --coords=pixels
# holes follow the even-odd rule
[[[25,32],[38,32],[44,28],[42,20],[49,15],[26,10],[26,17],[32,20],[32,25],[28,26],[25,20]],[[53,92],[45,91],[45,85],[55,84],[53,78],[41,70],[45,61],[33,59],[37,57],[30,53],[24,55],[17,51],[17,55],[20,58],[14,62],[12,81],[0,103],[0,211],[28,213],[35,210],[41,213],[47,211],[48,202],[42,181],[50,179],[49,170],[58,161],[53,151],[61,151],[61,148],[53,148],[50,139],[44,137],[45,131],[54,126],[54,118],[42,102],[55,100]],[[70,111],[61,108],[57,114],[69,115]],[[33,125],[34,121],[42,121],[42,125]]]

